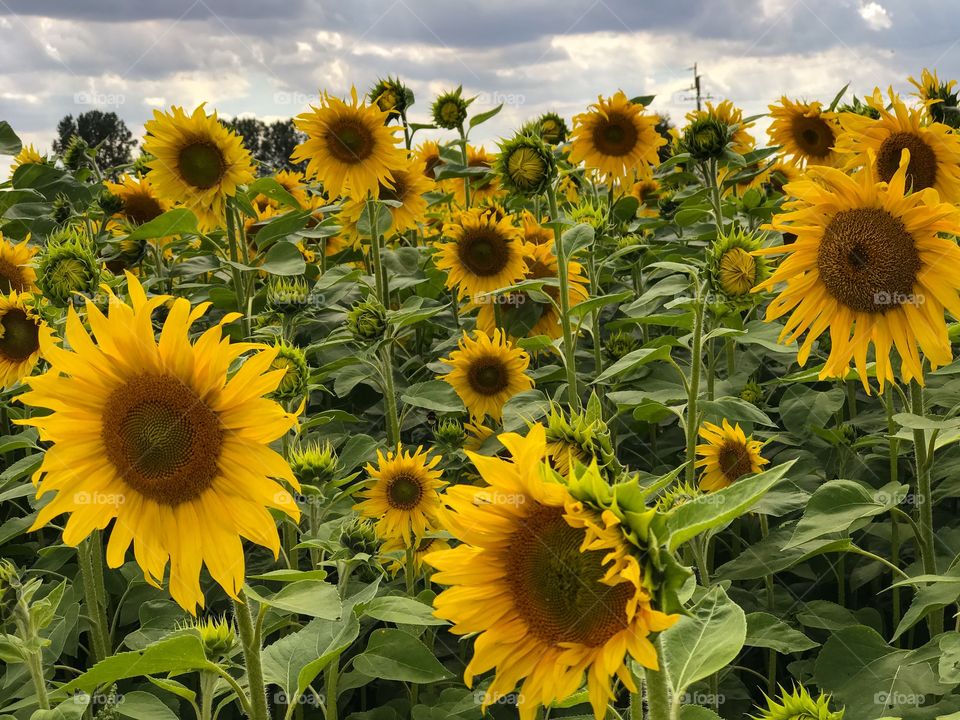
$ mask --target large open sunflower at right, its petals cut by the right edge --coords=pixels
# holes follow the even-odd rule
[[[833,168],[808,171],[790,183],[798,198],[774,218],[774,228],[796,241],[758,253],[787,253],[755,292],[786,283],[767,309],[767,320],[790,314],[780,338],[806,339],[797,360],[830,329],[830,355],[820,377],[844,377],[853,360],[867,392],[867,352],[874,346],[883,388],[894,380],[890,350],[901,359],[903,380],[923,382],[917,346],[936,368],[952,359],[944,308],[960,317],[960,248],[939,237],[955,232],[957,210],[933,191],[906,194],[910,152],[889,184],[877,182],[872,155],[853,177]]]

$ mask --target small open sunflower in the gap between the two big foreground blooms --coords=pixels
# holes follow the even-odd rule
[[[376,466],[368,464],[370,486],[358,493],[365,500],[354,506],[362,517],[376,520],[377,535],[409,545],[436,527],[443,487],[436,470],[440,456],[432,458],[418,447],[412,454],[397,448],[384,455],[377,451]]]

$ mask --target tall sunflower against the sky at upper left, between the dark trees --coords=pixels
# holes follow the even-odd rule
[[[182,203],[196,214],[201,230],[216,228],[224,218],[228,197],[253,181],[253,163],[243,139],[201,104],[192,115],[183,108],[153,111],[144,127],[144,152],[150,182],[158,197]]]

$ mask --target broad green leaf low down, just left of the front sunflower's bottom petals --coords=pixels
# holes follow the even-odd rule
[[[353,659],[353,666],[364,675],[384,680],[431,683],[452,677],[430,648],[403,630],[374,630],[367,649]]]

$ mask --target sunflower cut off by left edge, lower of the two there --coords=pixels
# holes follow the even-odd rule
[[[0,295],[0,387],[12,387],[29,375],[41,345],[52,342],[53,332],[34,310],[31,295],[16,290]]]

